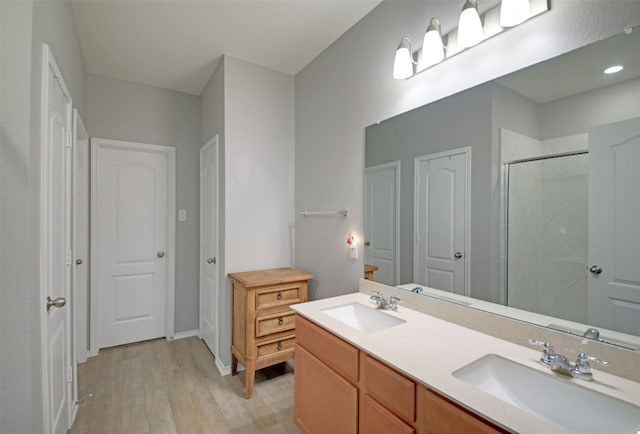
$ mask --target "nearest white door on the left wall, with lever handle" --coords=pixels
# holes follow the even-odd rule
[[[71,97],[45,45],[42,89],[41,294],[46,432],[71,424]]]

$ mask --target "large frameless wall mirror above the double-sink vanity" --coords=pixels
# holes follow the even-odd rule
[[[369,276],[640,348],[638,47],[626,31],[367,127]]]

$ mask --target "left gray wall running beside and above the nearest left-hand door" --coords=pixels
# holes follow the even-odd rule
[[[68,2],[2,0],[0,7],[0,432],[33,434],[44,430],[37,220],[42,43],[81,113],[85,68]]]

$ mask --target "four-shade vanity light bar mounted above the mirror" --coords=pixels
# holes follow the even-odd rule
[[[499,5],[480,16],[477,0],[465,0],[458,27],[449,33],[442,34],[440,20],[434,17],[429,22],[422,48],[419,50],[414,52],[411,40],[407,37],[402,38],[393,62],[393,78],[411,78],[469,47],[547,12],[549,1],[502,0]]]

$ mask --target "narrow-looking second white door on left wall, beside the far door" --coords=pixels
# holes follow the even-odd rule
[[[75,363],[89,352],[89,135],[73,110],[73,329]],[[75,374],[74,374],[75,375]],[[76,392],[74,392],[74,396]],[[77,398],[77,396],[76,396]]]

